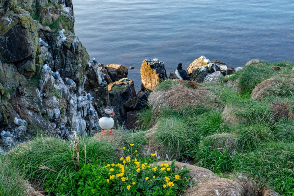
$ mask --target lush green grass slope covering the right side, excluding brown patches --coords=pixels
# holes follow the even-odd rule
[[[271,68],[273,66],[280,66],[281,69],[275,71]],[[241,172],[258,180],[261,185],[289,195],[294,191],[294,174],[290,171],[294,170],[294,124],[293,120],[274,118],[269,103],[282,100],[293,108],[294,83],[289,80],[294,76],[290,71],[292,67],[294,63],[290,62],[246,66],[235,75],[222,78],[219,84],[205,85],[212,96],[203,105],[183,110],[161,108],[160,117],[156,119],[156,141],[153,143],[161,149],[168,149],[166,152],[176,155],[176,158],[190,157],[196,165],[213,172],[235,175]],[[262,101],[251,99],[253,88],[271,77],[282,85],[270,89],[269,95]],[[228,81],[235,80],[238,81],[239,91],[226,85]],[[176,85],[179,83],[163,81],[157,90]],[[229,106],[230,115],[238,123],[231,125],[222,120],[225,106]],[[145,114],[151,112],[151,108],[143,111]],[[146,126],[151,117],[141,115],[140,118]],[[198,145],[204,137],[216,133],[235,135],[238,148],[228,151],[212,148],[209,144]]]

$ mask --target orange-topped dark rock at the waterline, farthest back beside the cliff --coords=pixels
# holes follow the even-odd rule
[[[128,69],[120,64],[108,64],[105,66],[112,81],[118,81],[128,76]]]

